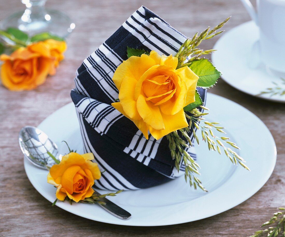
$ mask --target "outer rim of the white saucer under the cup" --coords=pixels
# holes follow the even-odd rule
[[[244,27],[244,25],[250,25],[250,24],[255,24],[254,21],[246,21],[244,23],[241,23],[233,28],[231,28],[230,30],[228,30],[226,33],[224,33],[218,40],[217,42],[215,42],[215,45],[213,46],[213,48],[217,48],[217,45],[222,41],[224,40],[225,37],[227,37],[228,35],[230,35],[232,33],[232,31],[236,30],[237,28],[242,28]],[[217,49],[218,50],[218,49]],[[216,65],[217,61],[215,61],[217,58],[217,54],[212,54],[211,55],[211,61],[213,62],[214,65]],[[285,98],[284,100],[278,100],[278,99],[274,99],[272,97],[265,97],[265,96],[258,96],[257,94],[253,94],[253,93],[250,93],[250,92],[247,92],[245,90],[243,90],[242,88],[239,88],[237,87],[234,83],[232,83],[231,81],[227,80],[226,78],[224,78],[223,74],[221,75],[221,78],[227,83],[229,84],[230,86],[232,86],[233,88],[247,94],[247,95],[250,95],[250,96],[253,96],[255,98],[259,98],[259,99],[262,99],[262,100],[268,100],[268,101],[272,101],[272,102],[277,102],[277,103],[282,103],[284,104],[285,103]]]

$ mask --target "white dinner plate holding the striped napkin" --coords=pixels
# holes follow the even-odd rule
[[[209,151],[200,138],[196,146],[201,166],[201,181],[208,193],[190,188],[184,177],[168,183],[136,191],[124,191],[109,199],[132,214],[131,219],[118,219],[92,204],[57,201],[56,206],[91,220],[128,226],[162,226],[200,220],[233,208],[254,195],[269,179],[276,162],[274,139],[253,113],[223,97],[208,94],[207,121],[218,121],[226,127],[227,136],[236,142],[250,167],[247,171],[234,166],[225,155]],[[38,126],[58,144],[62,154],[67,147],[82,152],[82,139],[74,105],[60,108]],[[200,134],[200,132],[198,133]],[[115,158],[115,157],[114,157]],[[34,167],[24,159],[25,171],[35,189],[50,202],[55,200],[55,187],[46,182],[47,171]],[[100,193],[106,191],[100,190]]]

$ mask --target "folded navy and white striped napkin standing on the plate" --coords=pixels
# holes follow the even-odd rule
[[[111,106],[119,91],[112,81],[116,68],[127,60],[127,46],[175,55],[186,37],[142,6],[76,72],[71,97],[76,107],[84,151],[92,152],[102,173],[95,186],[134,190],[165,183],[184,174],[174,167],[168,140],[146,140],[136,125]],[[198,88],[205,102],[206,90]],[[193,134],[190,131],[193,141]],[[186,149],[195,159],[194,147]]]

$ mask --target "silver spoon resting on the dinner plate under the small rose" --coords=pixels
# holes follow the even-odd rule
[[[19,144],[25,157],[33,165],[41,169],[47,169],[47,166],[55,164],[54,160],[47,152],[50,152],[56,159],[61,160],[62,155],[59,154],[56,144],[49,139],[48,135],[37,127],[23,127],[19,133]],[[94,190],[97,195],[100,195]],[[112,215],[127,220],[131,218],[131,214],[123,208],[117,206],[107,198],[101,198],[100,201],[105,202],[105,205],[99,204],[107,212]]]

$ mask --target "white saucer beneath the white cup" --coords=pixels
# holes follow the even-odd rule
[[[281,85],[280,77],[260,62],[259,30],[253,21],[243,23],[223,34],[217,41],[212,54],[212,62],[221,71],[222,78],[234,88],[252,96],[257,96],[266,88]],[[273,55],[274,56],[274,55]],[[281,85],[285,88],[285,85]],[[262,94],[258,97],[285,103],[285,95]]]

